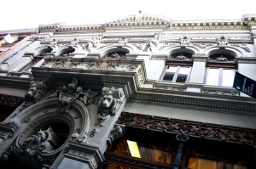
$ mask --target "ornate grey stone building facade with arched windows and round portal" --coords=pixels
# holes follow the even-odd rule
[[[0,31],[1,168],[255,168],[255,21]]]

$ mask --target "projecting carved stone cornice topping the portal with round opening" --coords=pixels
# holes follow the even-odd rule
[[[65,73],[79,76],[84,88],[100,90],[102,84],[122,87],[127,98],[133,97],[137,88],[145,82],[146,72],[143,60],[136,59],[44,59],[41,67],[32,67],[34,80],[49,77],[66,82]],[[63,75],[62,77],[60,76]],[[81,76],[83,75],[83,76]],[[90,82],[90,83],[85,83]]]

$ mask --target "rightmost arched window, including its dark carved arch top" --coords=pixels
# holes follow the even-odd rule
[[[232,87],[236,73],[236,57],[219,53],[209,56],[206,85]]]

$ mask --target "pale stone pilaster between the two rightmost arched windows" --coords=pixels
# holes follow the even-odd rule
[[[189,76],[189,82],[187,83],[188,92],[197,92],[201,93],[200,87],[193,87],[204,84],[206,76],[206,65],[207,65],[207,56],[204,54],[193,55],[193,66]]]

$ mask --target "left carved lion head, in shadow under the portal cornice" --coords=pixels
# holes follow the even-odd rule
[[[37,103],[44,96],[47,89],[48,85],[46,82],[32,81],[25,94],[26,107]]]

